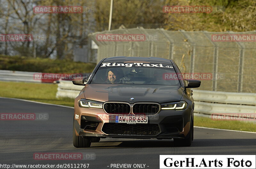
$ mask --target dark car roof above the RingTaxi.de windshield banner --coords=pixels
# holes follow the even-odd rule
[[[172,64],[170,59],[164,59],[164,58],[156,58],[156,57],[125,57],[125,56],[115,56],[115,57],[110,57],[106,58],[103,63],[108,63],[108,62],[138,62],[138,61],[144,61],[144,62],[149,62],[149,63],[163,63],[163,64]]]

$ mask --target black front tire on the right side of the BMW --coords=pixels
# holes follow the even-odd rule
[[[191,145],[194,137],[194,117],[193,112],[191,116],[191,123],[188,135],[185,138],[174,138],[173,144],[175,147],[188,147]]]

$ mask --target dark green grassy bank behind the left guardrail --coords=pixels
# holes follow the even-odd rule
[[[91,73],[95,63],[0,55],[0,70],[42,73]]]

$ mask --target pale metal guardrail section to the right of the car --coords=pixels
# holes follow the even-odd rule
[[[256,94],[193,90],[194,112],[206,115],[256,115]]]

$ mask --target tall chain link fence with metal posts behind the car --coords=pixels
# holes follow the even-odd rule
[[[144,35],[145,39],[120,40],[113,35]],[[221,38],[222,35],[226,38]],[[233,38],[234,35],[250,36],[252,39],[245,37],[232,41],[228,39],[230,35]],[[201,80],[201,90],[256,93],[255,35],[255,31],[185,32],[143,27],[120,28],[89,34],[89,41],[93,40],[98,50],[89,49],[88,56],[92,62],[113,56],[173,59],[182,73],[212,74],[210,80]]]

